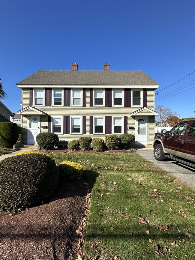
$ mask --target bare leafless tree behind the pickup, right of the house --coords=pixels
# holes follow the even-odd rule
[[[164,127],[167,123],[167,120],[171,117],[175,117],[177,115],[176,112],[172,112],[170,108],[166,108],[163,105],[157,106],[155,111],[158,115],[155,116],[155,122],[158,126]]]

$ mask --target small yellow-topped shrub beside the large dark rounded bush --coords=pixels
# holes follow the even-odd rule
[[[64,161],[59,164],[61,170],[61,177],[75,180],[81,178],[83,175],[83,167],[79,163]]]

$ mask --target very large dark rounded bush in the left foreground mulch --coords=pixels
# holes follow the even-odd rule
[[[16,166],[17,165],[17,166]],[[0,162],[0,210],[40,205],[58,185],[58,168],[43,154],[21,154]]]

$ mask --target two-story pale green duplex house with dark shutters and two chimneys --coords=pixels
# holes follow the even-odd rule
[[[142,70],[39,70],[16,84],[22,89],[22,141],[36,143],[38,133],[53,132],[59,145],[81,136],[131,133],[136,144],[152,144],[155,89]]]

